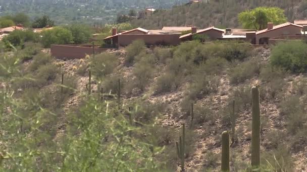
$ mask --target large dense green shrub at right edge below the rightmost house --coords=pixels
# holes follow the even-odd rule
[[[290,41],[273,47],[270,62],[273,66],[282,67],[292,72],[306,72],[307,44],[302,41]]]

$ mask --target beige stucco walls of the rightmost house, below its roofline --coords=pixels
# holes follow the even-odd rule
[[[301,30],[303,28],[297,27],[297,26],[285,26],[283,28],[275,29],[269,32],[265,32],[259,35],[256,35],[256,44],[259,44],[259,40],[261,38],[275,38],[282,35],[296,35],[301,34]]]

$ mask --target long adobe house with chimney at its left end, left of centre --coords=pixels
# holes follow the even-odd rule
[[[143,40],[146,45],[178,45],[181,32],[167,30],[146,30],[135,28],[129,31],[117,33],[112,29],[112,36],[104,39],[106,47],[127,46],[135,40]]]

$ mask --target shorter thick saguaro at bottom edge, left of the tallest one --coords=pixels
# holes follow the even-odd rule
[[[222,171],[230,171],[229,167],[229,133],[224,131],[222,133]]]

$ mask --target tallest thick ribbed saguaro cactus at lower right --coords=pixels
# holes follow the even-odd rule
[[[251,166],[260,165],[260,102],[259,86],[251,88],[251,111],[252,111],[252,130],[251,130]]]

